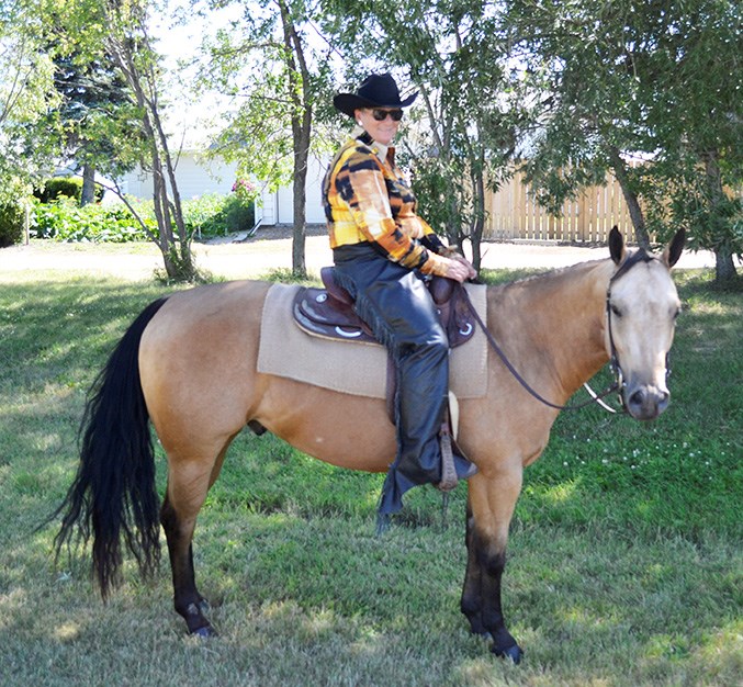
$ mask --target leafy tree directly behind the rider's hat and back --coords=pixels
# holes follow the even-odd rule
[[[472,0],[334,0],[328,11],[351,80],[393,67],[419,90],[423,106],[404,140],[415,138],[406,153],[421,215],[450,243],[469,240],[479,267],[485,189],[507,176],[522,121],[499,14]]]

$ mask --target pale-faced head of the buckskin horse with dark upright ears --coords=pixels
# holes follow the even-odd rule
[[[671,268],[684,249],[679,229],[661,255],[628,252],[619,229],[609,235],[617,266],[606,300],[606,345],[624,408],[635,419],[656,418],[668,405],[667,356],[680,301]]]

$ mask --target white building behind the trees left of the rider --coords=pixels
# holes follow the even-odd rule
[[[325,224],[322,202],[322,184],[327,160],[309,157],[306,188],[306,223]],[[176,180],[182,200],[199,198],[206,193],[230,193],[236,178],[235,162],[207,159],[198,150],[182,150],[178,156]],[[137,168],[121,181],[122,191],[143,200],[153,198],[153,177]],[[294,201],[292,187],[277,191],[263,189],[256,207],[256,218],[263,225],[293,224]]]

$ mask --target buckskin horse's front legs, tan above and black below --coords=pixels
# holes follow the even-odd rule
[[[502,578],[506,566],[508,526],[521,489],[521,473],[498,478],[477,474],[470,481],[468,503],[468,568],[461,609],[473,633],[493,640],[496,656],[519,663],[524,652],[506,628]]]

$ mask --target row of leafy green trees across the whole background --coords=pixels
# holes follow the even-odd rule
[[[193,0],[192,11],[209,24],[229,4]],[[233,4],[239,14],[204,42],[199,76],[188,78],[196,93],[232,95],[215,150],[269,187],[292,180],[295,271],[304,270],[307,156],[327,151],[328,132],[346,126],[331,94],[375,70],[419,91],[398,154],[421,213],[450,241],[471,241],[475,262],[485,190],[522,166],[553,210],[609,171],[641,244],[685,226],[694,247],[716,251],[718,279],[735,275],[743,20],[734,0]],[[0,5],[0,193],[18,195],[65,150],[115,176],[144,159],[143,140],[156,142],[169,176],[164,75],[148,38],[154,13],[166,8],[154,0]],[[123,34],[111,21],[124,12],[136,16],[136,31]],[[112,63],[128,89],[117,103]],[[40,126],[50,113],[65,125]],[[140,134],[127,136],[134,121]],[[162,203],[164,222],[177,225],[177,199]]]

